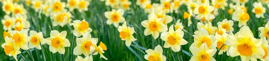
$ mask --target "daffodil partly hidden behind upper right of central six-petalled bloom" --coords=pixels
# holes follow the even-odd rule
[[[154,13],[157,16],[157,18],[164,18],[164,21],[162,23],[164,23],[164,25],[167,26],[167,24],[170,23],[173,20],[173,18],[169,15],[166,15],[165,11],[166,10],[162,10],[159,12],[156,9],[152,9],[152,13]]]

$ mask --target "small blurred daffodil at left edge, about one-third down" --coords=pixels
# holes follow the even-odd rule
[[[3,24],[4,30],[11,30],[15,27],[15,22],[12,20],[12,18],[9,15],[5,15],[4,19],[1,20]]]

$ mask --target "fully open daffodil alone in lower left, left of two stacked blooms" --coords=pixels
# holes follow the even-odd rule
[[[52,53],[58,51],[60,54],[65,54],[64,47],[70,46],[69,40],[65,38],[66,34],[66,31],[59,33],[57,30],[52,30],[50,32],[50,37],[45,39],[46,43],[49,45],[49,51]]]

